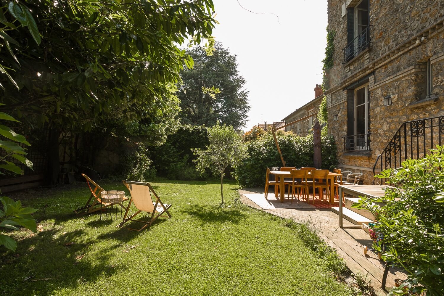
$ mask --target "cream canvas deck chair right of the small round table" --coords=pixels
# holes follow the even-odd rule
[[[127,210],[125,211],[125,216],[123,216],[123,221],[122,223],[117,225],[117,227],[122,227],[123,224],[125,224],[127,221],[136,221],[136,222],[142,222],[144,224],[141,229],[134,229],[129,227],[125,228],[141,231],[145,229],[145,227],[148,227],[148,230],[150,230],[150,227],[153,224],[153,222],[163,213],[166,213],[168,217],[171,218],[171,215],[168,212],[168,209],[171,207],[171,205],[163,204],[159,196],[155,193],[153,187],[151,187],[150,183],[131,182],[131,181],[122,181],[122,182],[123,184],[125,184],[125,186],[127,186],[128,190],[130,190],[131,199],[130,202],[128,203]],[[156,198],[155,201],[153,201],[153,198],[151,197],[151,192]],[[131,203],[134,203],[137,212],[132,214],[130,217],[127,217]],[[150,221],[140,221],[133,219],[136,215],[138,215],[141,212],[150,213],[151,214]]]

